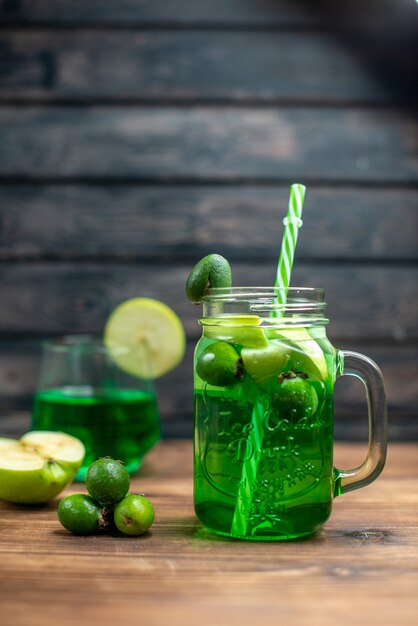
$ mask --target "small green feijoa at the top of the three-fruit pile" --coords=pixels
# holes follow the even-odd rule
[[[130,477],[121,461],[104,457],[94,461],[85,476],[87,491],[103,505],[111,506],[129,491]]]

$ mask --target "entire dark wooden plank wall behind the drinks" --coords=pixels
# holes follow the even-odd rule
[[[293,284],[326,288],[334,344],[383,370],[391,437],[418,437],[417,11],[0,0],[3,432],[27,424],[40,339],[148,295],[187,329],[158,391],[166,435],[190,435],[188,271],[216,251],[235,284],[271,283],[297,180]],[[339,437],[365,436],[363,396],[338,382]]]

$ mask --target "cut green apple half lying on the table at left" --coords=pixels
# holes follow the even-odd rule
[[[79,439],[60,432],[34,430],[18,441],[0,438],[0,499],[52,500],[74,479],[84,454]]]

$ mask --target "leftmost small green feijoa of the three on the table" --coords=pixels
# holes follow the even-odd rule
[[[60,501],[58,519],[64,528],[76,535],[89,535],[107,526],[100,504],[81,493]]]

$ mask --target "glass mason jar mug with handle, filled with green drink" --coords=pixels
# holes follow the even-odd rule
[[[283,300],[285,303],[283,304]],[[381,372],[327,339],[322,289],[211,289],[195,351],[194,499],[208,529],[240,539],[317,531],[333,498],[375,480],[386,458]],[[338,376],[359,378],[369,412],[365,461],[333,466]]]

